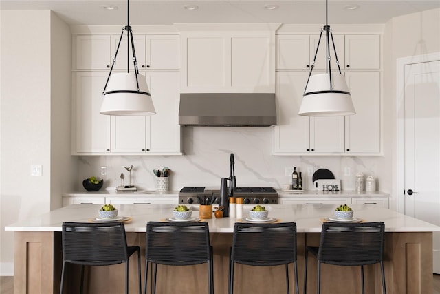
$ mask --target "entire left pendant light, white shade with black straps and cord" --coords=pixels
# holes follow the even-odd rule
[[[111,64],[109,77],[104,86],[104,101],[102,102],[100,113],[113,116],[146,116],[155,114],[153,101],[151,100],[150,90],[146,84],[144,75],[139,74],[135,53],[135,43],[133,42],[133,32],[129,23],[130,3],[127,0],[127,25],[122,28],[118,48],[116,48],[115,58]],[[111,73],[118,56],[122,37],[126,32],[127,36],[127,72]],[[130,72],[129,45],[133,52],[134,72]]]

